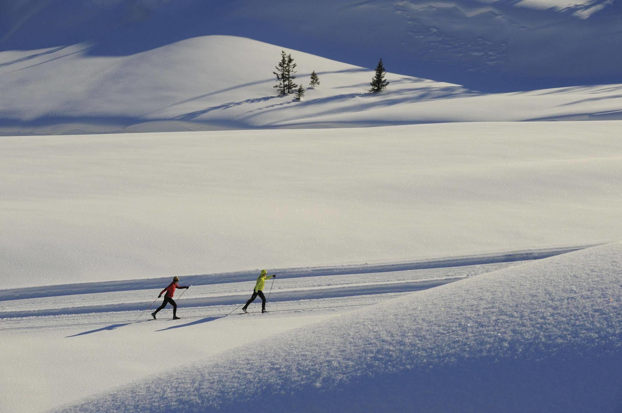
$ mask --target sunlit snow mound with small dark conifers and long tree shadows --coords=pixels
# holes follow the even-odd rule
[[[0,135],[622,119],[622,84],[486,94],[388,73],[371,94],[372,70],[287,49],[297,83],[312,70],[322,82],[295,101],[273,87],[277,45],[210,35],[129,56],[92,47],[0,52]]]

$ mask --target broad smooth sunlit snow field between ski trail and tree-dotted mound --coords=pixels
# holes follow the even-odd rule
[[[529,122],[5,137],[0,281],[34,287],[609,242],[622,232],[620,129]]]

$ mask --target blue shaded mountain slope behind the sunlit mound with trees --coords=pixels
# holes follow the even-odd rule
[[[0,51],[91,42],[93,57],[129,56],[220,34],[368,68],[381,53],[394,73],[479,90],[620,83],[619,0],[11,3],[0,14]],[[226,66],[236,55],[213,58]]]

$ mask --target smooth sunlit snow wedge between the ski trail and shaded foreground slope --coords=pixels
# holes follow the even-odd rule
[[[7,355],[0,379],[2,410],[26,413],[55,409],[350,309],[320,308],[304,316],[276,313],[272,319],[262,320],[230,316],[224,324],[220,319],[223,312],[204,311],[205,315],[192,317],[197,312],[186,313],[182,308],[178,315],[189,315],[189,319],[173,321],[171,311],[162,311],[162,320],[150,321],[147,312],[147,317],[134,324],[140,314],[134,311],[121,317],[85,315],[65,320],[70,322],[68,327],[21,324],[27,328],[2,331],[0,347]],[[15,329],[16,324],[12,323],[11,328]]]

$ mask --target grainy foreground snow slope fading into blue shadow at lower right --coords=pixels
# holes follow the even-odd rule
[[[339,314],[59,412],[619,412],[622,243]]]

